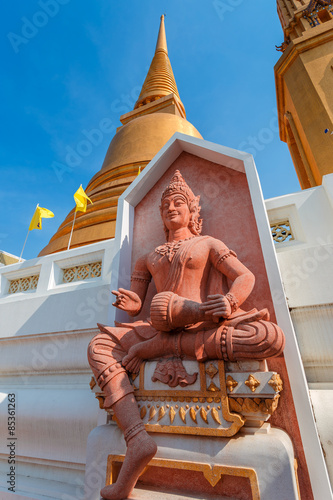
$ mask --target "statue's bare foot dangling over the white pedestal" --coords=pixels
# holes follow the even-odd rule
[[[143,469],[148,465],[157,451],[155,441],[145,430],[130,439],[126,457],[115,484],[105,486],[101,496],[105,500],[122,500],[133,490]]]

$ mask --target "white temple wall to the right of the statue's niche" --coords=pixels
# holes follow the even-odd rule
[[[333,174],[265,203],[271,224],[289,221],[294,236],[275,248],[333,483]]]

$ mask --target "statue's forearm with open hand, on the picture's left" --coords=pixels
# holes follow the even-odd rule
[[[116,301],[113,305],[118,307],[118,309],[126,311],[130,316],[137,316],[140,313],[151,281],[151,274],[147,268],[146,257],[147,256],[140,257],[135,264],[131,276],[130,290],[119,288],[118,291],[112,291],[112,293],[116,295]]]

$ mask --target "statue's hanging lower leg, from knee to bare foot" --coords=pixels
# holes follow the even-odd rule
[[[106,500],[127,498],[135,483],[157,451],[140,418],[134,390],[121,364],[126,351],[108,333],[92,339],[88,360],[101,389],[106,393],[104,408],[112,407],[124,433],[127,452],[115,484],[106,486],[101,495]]]

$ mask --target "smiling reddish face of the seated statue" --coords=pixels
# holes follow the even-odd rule
[[[166,227],[170,229],[179,229],[188,227],[191,212],[185,196],[175,193],[166,196],[161,205],[162,219]]]

